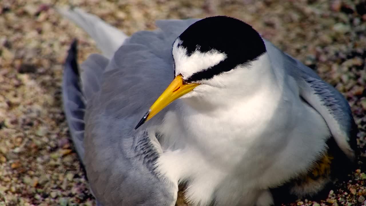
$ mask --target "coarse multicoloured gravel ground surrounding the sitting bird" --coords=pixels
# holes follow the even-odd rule
[[[347,97],[365,152],[364,0],[70,2],[127,34],[154,29],[154,21],[165,18],[224,14],[250,23]],[[0,206],[95,205],[69,140],[60,88],[72,39],[79,39],[80,62],[98,50],[86,33],[50,7],[54,3],[0,0]],[[324,202],[292,205],[366,205],[366,167],[359,164],[352,181],[330,191]],[[181,195],[177,205],[185,205]]]

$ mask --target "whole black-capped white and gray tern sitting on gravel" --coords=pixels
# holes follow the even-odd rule
[[[82,63],[80,88],[74,43],[63,77],[98,204],[173,206],[184,183],[193,206],[269,206],[320,194],[355,161],[346,99],[246,23],[161,20],[127,37],[80,9],[59,12],[104,55]]]

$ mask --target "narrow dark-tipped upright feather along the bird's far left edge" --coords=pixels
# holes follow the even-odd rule
[[[85,100],[79,85],[79,69],[76,62],[77,41],[71,44],[64,65],[62,80],[62,100],[67,124],[71,133],[72,141],[79,157],[84,157],[84,113]]]

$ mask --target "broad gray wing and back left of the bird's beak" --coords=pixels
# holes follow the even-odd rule
[[[133,128],[173,79],[172,43],[194,21],[160,21],[163,30],[135,33],[101,75],[87,73],[101,70],[100,56],[83,63],[83,160],[93,194],[104,206],[175,204],[178,183],[158,174],[155,163],[162,149],[146,129],[160,124],[164,111],[138,130]]]

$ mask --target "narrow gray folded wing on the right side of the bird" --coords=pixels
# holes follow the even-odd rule
[[[283,66],[294,77],[300,96],[322,115],[340,149],[354,160],[358,129],[344,96],[299,60],[280,51],[267,40],[265,44],[272,63]]]

